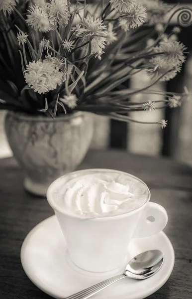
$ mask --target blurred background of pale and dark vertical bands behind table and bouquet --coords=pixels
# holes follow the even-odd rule
[[[94,2],[94,0],[92,0]],[[176,0],[165,2],[174,3]],[[182,6],[185,4],[192,8],[192,0],[180,0]],[[174,21],[170,26],[173,27]],[[192,93],[192,26],[182,28],[179,40],[188,47],[187,61],[181,73],[173,80],[159,82],[153,86],[153,90],[167,90],[172,92],[183,92],[187,86]],[[149,77],[145,72],[134,76],[130,81],[130,87],[140,88],[149,84]],[[137,102],[158,100],[161,95],[137,95],[132,100]],[[6,141],[4,133],[5,111],[0,110],[0,158],[12,156],[12,151]],[[142,125],[136,123],[122,123],[109,120],[106,117],[93,115],[95,120],[95,133],[92,140],[92,149],[118,148],[128,152],[145,155],[164,155],[192,165],[192,98],[185,102],[182,107],[175,109],[166,108],[150,113],[134,112],[132,118],[140,121],[158,121],[159,119],[168,120],[168,126],[164,130],[157,128],[156,125]]]

